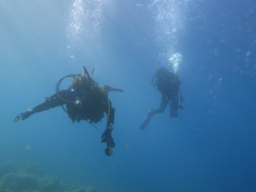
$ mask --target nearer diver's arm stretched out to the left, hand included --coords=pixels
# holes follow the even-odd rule
[[[58,92],[58,95],[66,99],[70,99],[73,96],[70,90],[61,90]],[[58,95],[54,94],[50,98],[46,98],[45,102],[42,102],[38,106],[35,106],[33,109],[29,109],[29,110],[26,110],[26,112],[18,114],[16,118],[14,118],[14,122],[18,122],[19,119],[25,120],[26,118],[29,118],[30,115],[39,113],[43,110],[49,110],[50,108],[53,108],[56,106],[62,106],[66,102],[64,102],[61,98],[59,98]]]

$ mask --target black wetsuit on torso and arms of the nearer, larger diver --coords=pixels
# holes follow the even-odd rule
[[[50,98],[46,98],[42,104],[35,106],[32,113],[66,105],[66,112],[73,122],[80,122],[80,120],[99,122],[104,117],[105,112],[109,114],[107,126],[114,124],[114,108],[111,107],[110,100],[100,88],[94,87],[86,96],[82,95],[81,92],[72,88],[61,90],[58,95],[54,94]]]

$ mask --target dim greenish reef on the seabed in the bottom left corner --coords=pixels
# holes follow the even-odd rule
[[[37,166],[0,163],[0,192],[96,192],[94,186],[73,186],[42,174]]]

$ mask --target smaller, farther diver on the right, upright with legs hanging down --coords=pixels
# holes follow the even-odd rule
[[[154,114],[162,113],[166,110],[166,106],[170,105],[170,118],[178,117],[178,108],[183,108],[182,105],[178,106],[178,100],[183,102],[182,94],[179,92],[179,86],[181,84],[178,75],[164,67],[159,67],[155,72],[152,79],[154,86],[162,94],[161,105],[158,109],[150,110],[147,114],[146,119],[140,126],[141,130],[146,129],[150,119]],[[178,96],[180,96],[178,98]]]

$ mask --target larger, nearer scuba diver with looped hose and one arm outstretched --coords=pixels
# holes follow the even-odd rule
[[[98,83],[90,77],[85,66],[83,66],[83,70],[82,75],[69,74],[61,78],[56,84],[54,95],[46,98],[45,102],[35,106],[33,109],[18,114],[14,118],[14,122],[18,122],[19,119],[25,120],[32,114],[49,110],[56,106],[62,106],[62,109],[66,111],[72,122],[85,120],[90,123],[96,123],[106,113],[106,130],[102,134],[102,142],[106,142],[105,153],[110,156],[113,152],[112,148],[115,146],[111,136],[111,132],[114,129],[114,108],[111,106],[108,93],[110,91],[122,92],[123,90],[111,86],[99,87]],[[65,78],[74,78],[74,80],[67,90],[59,90],[62,80]],[[66,109],[64,105],[66,105]]]

